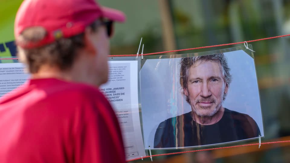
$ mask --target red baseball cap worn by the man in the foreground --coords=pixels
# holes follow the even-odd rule
[[[126,19],[123,12],[102,7],[95,0],[24,0],[15,18],[16,44],[23,48],[36,48],[59,37],[81,34],[89,24],[101,17],[119,22]],[[17,40],[30,27],[43,27],[47,32],[44,39],[29,43]]]

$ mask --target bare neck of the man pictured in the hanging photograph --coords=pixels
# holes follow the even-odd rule
[[[221,118],[224,115],[224,107],[221,106],[221,108],[218,110],[217,113],[215,113],[213,116],[198,116],[195,112],[192,111],[192,118],[196,123],[199,123],[201,125],[212,125],[217,123],[221,120]]]

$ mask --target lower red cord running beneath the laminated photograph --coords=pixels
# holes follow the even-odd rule
[[[279,142],[263,142],[262,144],[275,144],[275,143],[285,143],[285,142],[290,142],[290,140],[286,141],[279,141]],[[210,151],[210,150],[215,150],[215,149],[226,149],[226,148],[235,148],[235,147],[244,147],[244,146],[250,146],[250,145],[259,145],[259,143],[254,143],[254,144],[244,144],[244,145],[235,145],[235,146],[228,146],[228,147],[219,147],[219,148],[210,148],[210,149],[199,149],[199,150],[194,150],[194,151],[185,151],[185,152],[175,152],[175,153],[164,153],[164,154],[159,154],[159,155],[152,155],[152,157],[155,156],[164,156],[164,155],[175,155],[175,154],[182,154],[182,153],[189,153],[189,152],[200,152],[200,151]],[[150,156],[144,156],[143,158],[149,158]],[[132,160],[127,160],[129,161],[134,161],[134,160],[140,160],[142,158],[135,158]]]

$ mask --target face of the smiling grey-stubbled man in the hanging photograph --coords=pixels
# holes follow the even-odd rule
[[[221,108],[228,90],[221,70],[221,65],[214,61],[198,61],[188,69],[184,94],[198,116],[213,116]]]

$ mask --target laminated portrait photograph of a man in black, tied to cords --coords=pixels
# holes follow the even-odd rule
[[[145,149],[263,137],[253,54],[245,50],[145,56],[140,71]]]

